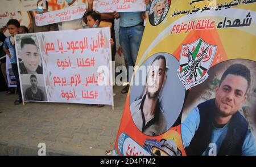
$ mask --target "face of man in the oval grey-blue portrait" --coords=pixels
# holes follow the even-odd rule
[[[159,95],[164,82],[166,67],[163,59],[157,59],[150,67],[147,75],[147,95],[154,98]]]

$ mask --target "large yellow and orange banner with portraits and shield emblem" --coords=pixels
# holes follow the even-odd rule
[[[256,155],[255,18],[256,1],[152,1],[114,155]]]

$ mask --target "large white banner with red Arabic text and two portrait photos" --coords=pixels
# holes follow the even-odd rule
[[[15,47],[23,101],[113,105],[108,27],[16,35]]]

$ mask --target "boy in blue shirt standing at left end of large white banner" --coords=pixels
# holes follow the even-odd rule
[[[22,94],[20,91],[19,71],[18,71],[18,65],[17,65],[17,59],[16,59],[15,40],[14,40],[14,36],[18,33],[18,28],[20,27],[20,24],[18,20],[10,19],[6,25],[8,27],[8,30],[11,36],[5,39],[5,43],[3,44],[3,50],[10,58],[11,68],[13,69],[13,72],[16,78],[19,98],[14,101],[14,104],[20,104],[22,103]]]

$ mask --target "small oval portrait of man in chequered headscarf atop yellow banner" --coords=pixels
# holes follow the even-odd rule
[[[166,17],[171,5],[171,0],[153,0],[150,5],[148,19],[151,25],[160,24]]]

